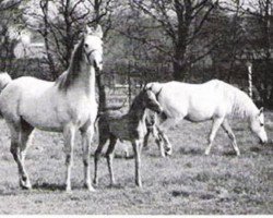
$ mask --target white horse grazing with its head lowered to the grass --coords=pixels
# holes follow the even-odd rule
[[[218,80],[204,84],[187,84],[180,82],[150,83],[147,87],[158,95],[158,101],[167,117],[159,123],[159,129],[166,131],[182,119],[192,122],[213,120],[205,155],[210,154],[212,143],[219,126],[229,138],[236,155],[240,152],[235,135],[228,124],[228,117],[247,118],[250,129],[262,143],[268,142],[264,130],[263,108],[260,110],[240,89]],[[167,138],[166,134],[163,134]]]

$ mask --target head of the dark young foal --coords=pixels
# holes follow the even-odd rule
[[[158,113],[163,111],[161,104],[157,101],[155,94],[151,89],[141,90],[140,97],[141,104],[143,104],[144,108],[149,108]]]

